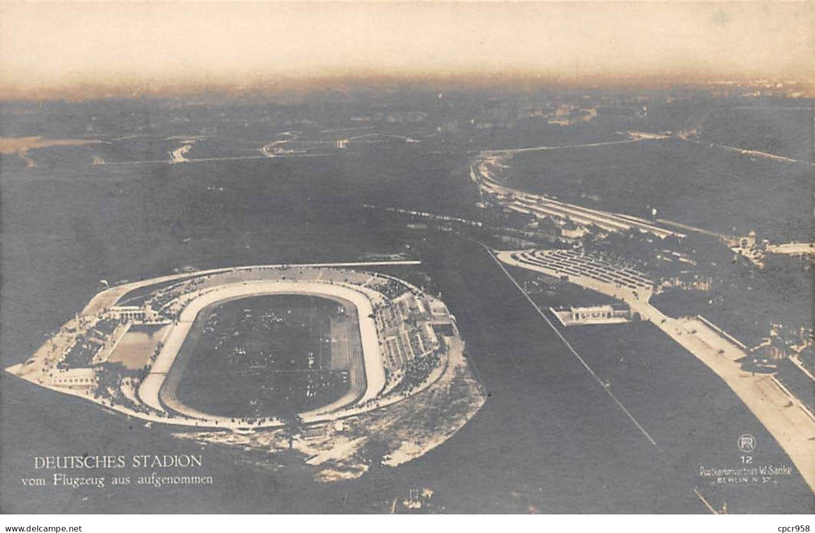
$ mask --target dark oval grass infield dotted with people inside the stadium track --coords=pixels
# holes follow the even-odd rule
[[[303,295],[248,297],[196,319],[200,331],[178,399],[222,416],[302,412],[349,386],[346,306]],[[217,390],[218,394],[213,394]]]

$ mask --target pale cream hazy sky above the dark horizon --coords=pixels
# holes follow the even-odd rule
[[[4,1],[0,96],[460,73],[813,81],[813,5]]]

